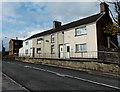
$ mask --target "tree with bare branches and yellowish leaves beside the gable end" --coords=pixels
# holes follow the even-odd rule
[[[105,0],[103,0],[105,2]],[[113,24],[106,24],[103,28],[104,33],[109,35],[120,35],[120,1],[112,0],[113,2],[107,2],[114,5],[116,11],[116,17],[113,16],[112,11],[109,9],[112,19],[114,21]]]

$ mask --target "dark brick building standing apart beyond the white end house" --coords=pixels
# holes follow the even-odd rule
[[[23,46],[23,41],[16,39],[11,39],[9,41],[9,55],[18,56],[19,49]]]

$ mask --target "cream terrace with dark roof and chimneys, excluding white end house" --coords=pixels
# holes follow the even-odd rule
[[[52,29],[25,41],[32,41],[30,48],[34,48],[31,53],[35,58],[99,58],[99,51],[107,48],[107,35],[102,30],[107,23],[112,23],[108,5],[101,3],[100,13],[65,25],[54,21]],[[117,45],[117,37],[110,39]]]

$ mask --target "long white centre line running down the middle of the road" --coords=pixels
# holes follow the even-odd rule
[[[49,72],[49,73],[58,75],[60,77],[74,78],[74,79],[86,81],[86,82],[89,82],[89,83],[93,83],[93,84],[97,84],[97,85],[102,85],[102,86],[106,86],[106,87],[110,87],[110,88],[114,88],[114,89],[120,90],[120,88],[116,87],[116,86],[112,86],[112,85],[108,85],[108,84],[104,84],[104,83],[100,83],[100,82],[96,82],[96,81],[92,81],[92,80],[88,80],[88,79],[84,79],[84,78],[79,78],[79,77],[75,77],[75,76],[71,76],[71,75],[61,74],[61,73],[54,72],[54,71],[51,71],[51,70],[45,70],[45,69],[42,69],[42,68],[31,67],[31,66],[24,66],[24,67],[26,67],[26,68],[32,68],[32,69],[36,69],[36,70],[40,70],[40,71]]]

